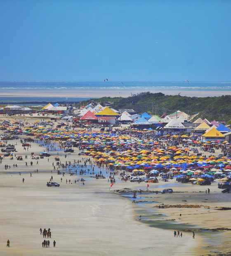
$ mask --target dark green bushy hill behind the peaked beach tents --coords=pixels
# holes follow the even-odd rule
[[[184,111],[189,115],[196,115],[193,120],[201,117],[210,121],[231,120],[231,96],[220,97],[186,97],[180,95],[164,95],[163,93],[141,92],[132,97],[102,97],[90,99],[95,102],[113,102],[115,109],[134,109],[141,114],[144,111],[162,116],[165,112],[172,114],[177,110]],[[90,100],[82,101],[86,105]]]

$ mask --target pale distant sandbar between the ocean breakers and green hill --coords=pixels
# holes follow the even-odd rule
[[[162,92],[165,95],[178,95],[191,97],[214,97],[222,95],[231,95],[231,91],[219,90],[133,90],[132,94],[150,91],[152,93]],[[99,98],[104,96],[110,97],[128,97],[131,96],[131,89],[123,90],[2,90],[0,97],[88,97]]]

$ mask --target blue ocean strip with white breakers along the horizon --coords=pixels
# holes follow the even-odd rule
[[[47,82],[47,81],[0,81],[0,91],[9,90],[231,90],[231,82],[139,82],[139,81],[84,81],[84,82]],[[73,95],[74,96],[74,95]]]

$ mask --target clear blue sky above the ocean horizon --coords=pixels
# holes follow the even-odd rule
[[[1,81],[231,81],[230,0],[0,0]]]

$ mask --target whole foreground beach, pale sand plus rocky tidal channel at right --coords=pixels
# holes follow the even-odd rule
[[[29,122],[32,123],[32,120]],[[53,156],[57,155],[57,151],[49,152],[49,162],[45,157],[38,160],[38,165],[37,160],[32,160],[33,166],[30,166],[30,153],[38,155],[38,152],[43,152],[46,148],[31,142],[31,148],[25,151],[19,140],[11,142],[16,147],[16,154],[21,154],[24,160],[9,160],[9,157],[5,157],[0,166],[1,255],[199,256],[208,255],[211,250],[231,250],[227,246],[231,231],[207,234],[196,232],[195,239],[192,238],[192,232],[183,231],[183,237],[180,238],[173,235],[174,228],[230,228],[229,211],[216,209],[231,207],[230,194],[222,194],[217,189],[217,184],[212,184],[211,194],[206,195],[204,186],[176,183],[173,179],[168,183],[150,184],[149,190],[160,191],[172,187],[174,192],[179,193],[156,195],[145,193],[146,183],[125,183],[116,176],[117,182],[109,191],[109,174],[106,174],[105,169],[102,171],[106,179],[96,180],[90,178],[88,173],[84,177],[78,175],[80,168],[77,168],[77,175],[73,176],[64,170],[65,176],[62,177],[57,175],[52,166],[53,162],[55,164]],[[28,159],[25,159],[25,155]],[[66,159],[64,152],[59,151],[59,155],[61,162],[73,163],[74,159],[82,161],[82,156],[78,156],[78,148],[67,155]],[[11,168],[5,170],[5,164]],[[13,164],[18,167],[14,168]],[[87,165],[87,168],[90,166]],[[98,167],[95,168],[99,171]],[[38,173],[34,173],[37,169]],[[61,184],[60,187],[46,186],[51,176]],[[74,183],[74,180],[82,177],[86,180],[85,185],[81,182]],[[22,178],[25,178],[25,183]],[[71,184],[66,184],[66,179],[70,179]],[[137,194],[137,199],[132,199],[132,192],[127,189],[141,189],[144,192],[141,196]],[[123,190],[126,193],[118,193]],[[134,200],[135,203],[132,202]],[[200,208],[158,209],[156,206],[159,204],[189,204]],[[179,216],[180,213],[182,216]],[[153,216],[161,218],[158,217],[158,222],[152,223]],[[166,225],[166,221],[169,224]],[[44,239],[40,235],[40,228],[51,229],[50,248],[42,248]],[[6,247],[7,239],[10,241],[10,248]],[[56,248],[53,248],[54,240]]]

